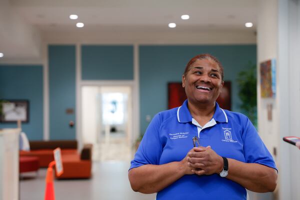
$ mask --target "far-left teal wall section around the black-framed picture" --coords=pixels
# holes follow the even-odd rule
[[[30,140],[43,138],[43,71],[41,65],[0,65],[0,98],[29,101],[29,122],[22,130]],[[0,128],[16,127],[0,123]]]

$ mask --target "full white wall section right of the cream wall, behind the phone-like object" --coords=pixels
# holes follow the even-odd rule
[[[278,71],[280,87],[280,134],[300,136],[300,69],[298,0],[278,0]],[[280,199],[300,197],[300,151],[280,142]]]

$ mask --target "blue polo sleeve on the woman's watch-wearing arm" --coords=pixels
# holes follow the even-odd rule
[[[277,170],[272,155],[264,145],[255,127],[247,117],[243,130],[243,137],[243,150],[246,162],[263,164]]]

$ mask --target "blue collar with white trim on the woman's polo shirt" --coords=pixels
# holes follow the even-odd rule
[[[218,122],[228,122],[225,111],[219,107],[217,102],[215,102],[215,110],[212,118]],[[192,116],[187,107],[187,99],[182,103],[180,107],[177,108],[177,119],[180,123],[186,123],[192,120]]]

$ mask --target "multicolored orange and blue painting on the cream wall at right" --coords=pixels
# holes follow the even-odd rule
[[[276,96],[276,60],[260,63],[260,95],[262,98]]]

